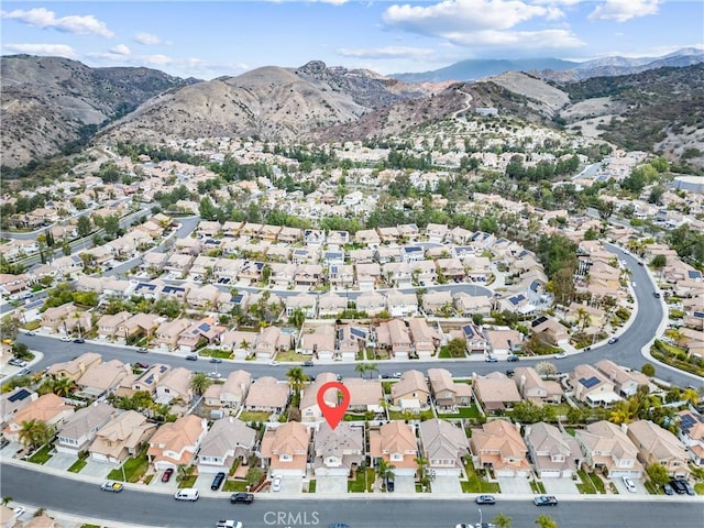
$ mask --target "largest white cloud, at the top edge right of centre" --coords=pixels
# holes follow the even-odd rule
[[[444,0],[429,7],[392,6],[382,20],[389,28],[444,36],[448,33],[507,30],[530,19],[554,19],[561,14],[557,8],[520,0]]]

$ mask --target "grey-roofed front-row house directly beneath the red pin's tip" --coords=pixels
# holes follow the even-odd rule
[[[332,429],[320,424],[314,439],[314,473],[316,476],[350,476],[365,457],[364,426],[342,421]]]

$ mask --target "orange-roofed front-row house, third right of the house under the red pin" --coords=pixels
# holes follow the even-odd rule
[[[470,449],[475,465],[491,469],[496,476],[530,475],[528,448],[518,426],[507,420],[492,420],[481,429],[472,429]]]

